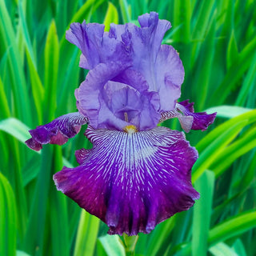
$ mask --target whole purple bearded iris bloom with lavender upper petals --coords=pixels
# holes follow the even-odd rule
[[[158,126],[178,118],[183,130],[206,130],[216,114],[194,113],[177,102],[184,69],[172,46],[162,45],[170,22],[151,12],[134,24],[73,23],[66,39],[82,50],[89,73],[77,90],[77,113],[30,130],[33,150],[62,145],[88,124],[90,150],[75,152],[79,166],[54,174],[58,190],[109,226],[109,234],[150,233],[194,205],[191,184],[198,152],[177,130]]]

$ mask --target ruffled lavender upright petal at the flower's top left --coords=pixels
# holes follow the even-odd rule
[[[130,61],[129,32],[122,32],[124,41],[116,39],[114,30],[104,32],[102,24],[86,24],[84,21],[82,24],[72,23],[66,31],[66,39],[82,50],[80,66],[91,70],[99,63]]]

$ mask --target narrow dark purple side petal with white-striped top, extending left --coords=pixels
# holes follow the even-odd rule
[[[78,112],[62,115],[44,126],[30,130],[32,138],[26,141],[26,145],[37,151],[42,150],[42,144],[63,145],[69,138],[78,134],[81,126],[86,122],[88,118]]]

